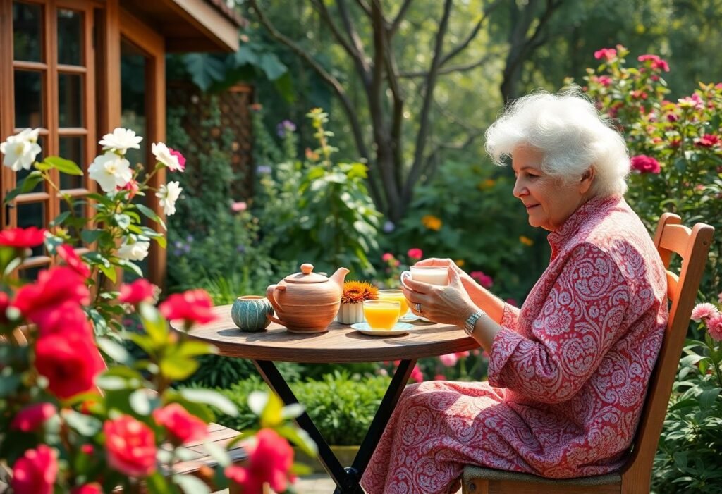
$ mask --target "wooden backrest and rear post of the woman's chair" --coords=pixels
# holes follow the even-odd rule
[[[632,453],[622,468],[622,482],[625,485],[649,485],[654,454],[713,233],[714,228],[703,223],[695,224],[692,229],[687,228],[676,214],[664,213],[659,219],[654,245],[667,273],[669,322],[652,371]],[[669,270],[673,253],[682,257],[679,275]],[[622,492],[625,492],[624,488]]]

